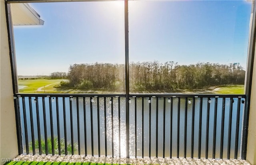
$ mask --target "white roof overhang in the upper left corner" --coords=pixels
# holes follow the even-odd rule
[[[44,25],[40,15],[27,3],[13,3],[11,8],[12,24],[14,26]]]

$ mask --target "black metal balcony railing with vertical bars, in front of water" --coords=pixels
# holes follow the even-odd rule
[[[134,94],[128,102],[125,94],[16,97],[20,153],[126,157],[129,145],[130,157],[243,154],[245,95]]]

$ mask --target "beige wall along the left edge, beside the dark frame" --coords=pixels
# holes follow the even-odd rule
[[[0,162],[18,155],[4,0],[0,0]]]

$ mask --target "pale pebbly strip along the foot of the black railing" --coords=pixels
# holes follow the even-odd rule
[[[191,159],[191,158],[118,158],[118,157],[92,157],[90,155],[19,155],[16,159],[20,161],[50,161],[50,162],[92,162],[92,163],[110,163],[110,164],[154,164],[154,165],[250,165],[248,161],[229,159]]]

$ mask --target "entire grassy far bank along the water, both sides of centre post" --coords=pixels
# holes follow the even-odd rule
[[[55,88],[63,79],[37,79],[37,80],[19,80],[19,85],[25,85],[20,89],[20,93],[122,93],[114,90],[80,90],[76,88]],[[132,92],[134,93],[134,92]],[[176,90],[176,91],[139,91],[136,93],[198,93],[198,94],[244,94],[244,85],[224,85],[212,86],[194,90]]]

